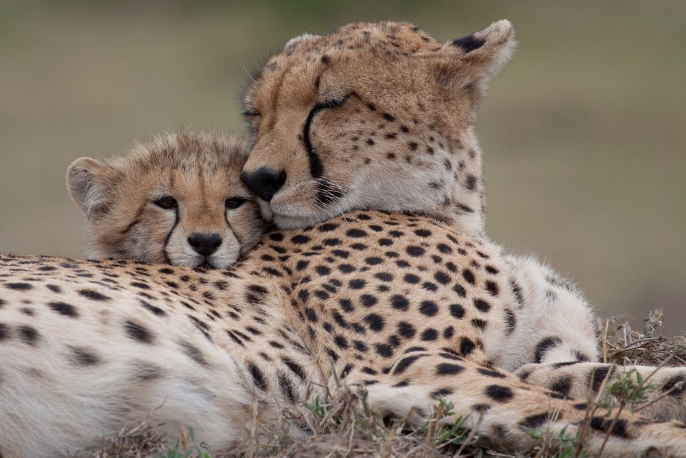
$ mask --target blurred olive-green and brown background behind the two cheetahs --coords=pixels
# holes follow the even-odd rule
[[[683,1],[0,0],[0,251],[80,255],[67,165],[168,128],[241,131],[247,73],[293,36],[396,19],[447,40],[501,18],[520,45],[477,126],[490,235],[604,316],[661,308],[685,329]]]

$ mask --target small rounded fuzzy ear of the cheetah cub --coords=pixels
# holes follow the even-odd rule
[[[112,165],[90,157],[80,157],[69,165],[67,189],[71,200],[81,207],[86,218],[97,218],[106,213],[115,176],[116,170]]]

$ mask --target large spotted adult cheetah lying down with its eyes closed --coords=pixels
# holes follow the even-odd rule
[[[309,225],[271,231],[230,269],[3,256],[0,453],[80,450],[150,412],[158,431],[192,425],[212,448],[230,448],[255,399],[257,424],[276,428],[283,405],[311,396],[306,382],[364,385],[373,408],[410,413],[414,424],[445,398],[467,426],[511,448],[530,445],[532,428],[553,439],[576,434],[586,405],[567,398],[585,391],[589,375],[598,389],[608,373],[592,362],[591,315],[567,282],[482,237],[480,154],[468,140],[482,80],[511,39],[506,21],[446,45],[412,25],[380,23],[289,43],[248,93],[255,148],[244,182],[277,224]],[[368,75],[339,73],[341,87],[392,87],[374,101],[363,86],[337,95],[327,69],[338,58]],[[402,74],[397,62],[414,86],[391,78]],[[298,87],[309,97],[281,98]],[[435,124],[440,138],[415,130],[412,107],[393,100],[437,113],[416,124]],[[348,120],[337,124],[340,111]],[[379,117],[383,141],[356,126],[368,115]],[[335,154],[348,128],[364,135],[359,156],[352,137]],[[358,205],[427,216],[357,210],[321,221]],[[503,370],[525,363],[569,379],[551,391]],[[673,388],[684,378],[683,369],[654,376],[669,391],[668,402],[652,404],[654,417],[683,417],[683,389]],[[592,419],[590,453],[684,455],[682,422],[613,415]]]

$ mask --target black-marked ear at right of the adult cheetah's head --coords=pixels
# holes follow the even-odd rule
[[[484,89],[486,82],[510,60],[517,42],[512,23],[496,21],[480,32],[456,38],[442,45],[438,73],[442,81]]]

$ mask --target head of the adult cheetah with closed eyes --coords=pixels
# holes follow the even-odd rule
[[[481,233],[475,112],[513,47],[508,21],[447,43],[407,23],[294,38],[244,97],[252,151],[241,180],[283,228],[382,209]]]

